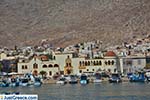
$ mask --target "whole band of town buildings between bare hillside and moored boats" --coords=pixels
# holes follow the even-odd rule
[[[102,50],[101,41],[55,49],[37,46],[1,50],[0,69],[7,73],[35,75],[44,71],[47,77],[59,74],[93,74],[97,71],[126,75],[129,72],[150,68],[149,42],[149,39],[138,39],[105,50]]]

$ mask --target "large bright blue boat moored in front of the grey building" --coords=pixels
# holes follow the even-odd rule
[[[145,74],[144,72],[138,72],[130,75],[129,77],[130,82],[145,82]]]

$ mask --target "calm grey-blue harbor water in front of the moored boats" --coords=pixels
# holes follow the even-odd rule
[[[40,87],[0,87],[0,92],[37,94],[39,100],[150,100],[150,83],[43,84]]]

